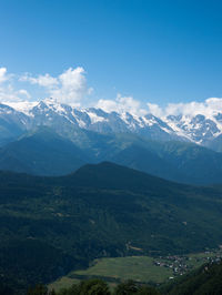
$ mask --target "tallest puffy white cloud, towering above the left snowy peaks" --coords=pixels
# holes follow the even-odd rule
[[[81,67],[69,68],[58,77],[51,77],[49,73],[32,77],[26,73],[20,81],[43,87],[48,95],[72,105],[80,105],[80,101],[92,92],[92,88],[88,89],[85,71]]]

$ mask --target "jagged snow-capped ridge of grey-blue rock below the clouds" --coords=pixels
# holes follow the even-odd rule
[[[1,143],[21,135],[22,132],[40,125],[48,125],[60,134],[75,136],[78,129],[99,133],[135,133],[158,141],[190,141],[211,146],[221,138],[222,114],[205,118],[203,114],[168,115],[157,118],[153,114],[138,116],[129,112],[104,112],[90,108],[78,110],[54,99],[46,99],[32,106],[0,104]],[[221,142],[221,140],[219,141]]]

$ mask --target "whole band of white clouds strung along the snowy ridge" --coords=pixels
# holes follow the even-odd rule
[[[69,68],[57,77],[49,73],[16,75],[8,73],[7,68],[2,67],[0,68],[0,102],[10,103],[11,105],[24,105],[26,103],[32,105],[37,100],[33,99],[31,93],[34,93],[33,89],[38,88],[42,90],[44,95],[41,99],[52,96],[61,103],[82,106],[82,102],[93,91],[92,88],[88,87],[85,75],[87,72],[82,67]],[[93,105],[105,112],[129,112],[139,116],[152,113],[159,118],[179,114],[185,116],[203,114],[206,118],[213,118],[219,112],[222,113],[222,98],[210,98],[203,102],[169,103],[162,108],[151,102],[147,102],[143,106],[133,96],[118,94],[113,100],[97,100]]]

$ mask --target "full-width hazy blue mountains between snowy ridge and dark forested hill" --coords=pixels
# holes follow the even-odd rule
[[[132,133],[77,129],[70,141],[39,126],[0,149],[0,170],[63,175],[85,163],[111,161],[181,183],[222,183],[222,153],[188,142],[157,142]]]

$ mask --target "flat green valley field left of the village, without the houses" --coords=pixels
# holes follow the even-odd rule
[[[153,258],[148,256],[101,258],[95,260],[88,269],[71,272],[50,284],[49,287],[57,291],[90,277],[101,277],[111,285],[130,278],[137,282],[163,283],[172,274],[170,268],[153,265]]]

